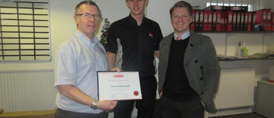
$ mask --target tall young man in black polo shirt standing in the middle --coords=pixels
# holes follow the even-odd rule
[[[163,36],[158,23],[144,17],[148,0],[125,0],[125,3],[130,15],[111,24],[105,48],[110,69],[139,71],[143,100],[136,101],[137,117],[149,118],[153,116],[157,88],[155,55],[159,58]],[[134,102],[119,102],[114,118],[131,117]]]

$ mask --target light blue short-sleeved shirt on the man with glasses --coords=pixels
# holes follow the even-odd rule
[[[108,71],[109,61],[102,44],[93,37],[93,44],[79,30],[75,36],[62,42],[55,52],[54,86],[74,85],[85,94],[98,99],[97,72]],[[92,104],[92,103],[90,103]],[[101,113],[103,110],[93,110],[89,106],[74,102],[59,92],[56,95],[58,108],[80,113]]]

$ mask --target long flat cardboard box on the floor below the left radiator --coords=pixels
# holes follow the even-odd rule
[[[4,112],[1,118],[55,118],[56,110]]]

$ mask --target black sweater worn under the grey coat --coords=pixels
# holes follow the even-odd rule
[[[173,101],[188,101],[198,96],[190,87],[184,70],[184,54],[189,37],[184,40],[172,38],[163,95]]]

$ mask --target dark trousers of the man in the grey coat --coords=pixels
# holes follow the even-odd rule
[[[195,99],[176,102],[166,98],[160,97],[162,118],[203,118],[204,106],[201,99],[196,97]]]

